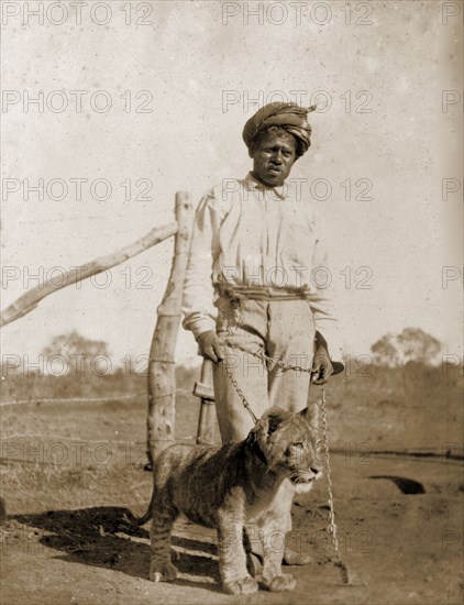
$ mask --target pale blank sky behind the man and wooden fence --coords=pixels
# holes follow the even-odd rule
[[[291,177],[329,226],[345,352],[417,327],[462,359],[457,2],[58,4],[2,6],[2,308],[170,222],[176,191],[243,178],[261,106],[316,102]],[[172,255],[53,294],[3,358],[71,330],[146,355]],[[177,360],[196,356],[180,329]]]

